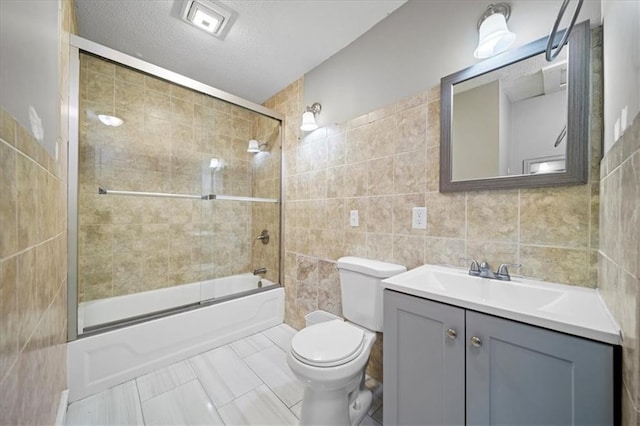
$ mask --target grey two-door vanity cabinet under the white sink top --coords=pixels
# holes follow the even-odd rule
[[[613,369],[612,345],[385,290],[385,425],[611,425]]]

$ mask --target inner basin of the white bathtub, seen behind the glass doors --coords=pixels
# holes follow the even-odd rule
[[[247,272],[175,287],[80,302],[78,334],[82,334],[85,327],[108,324],[125,318],[253,290],[258,288],[258,283],[261,283],[260,286],[263,288],[274,285],[267,279],[261,279]]]

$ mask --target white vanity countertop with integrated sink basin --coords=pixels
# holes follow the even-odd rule
[[[620,345],[616,324],[596,289],[512,277],[499,281],[423,265],[382,281],[383,287],[574,336]]]

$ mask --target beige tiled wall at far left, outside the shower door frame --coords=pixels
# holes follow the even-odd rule
[[[58,160],[0,109],[0,424],[53,424],[67,388],[67,140],[72,1],[60,2]]]

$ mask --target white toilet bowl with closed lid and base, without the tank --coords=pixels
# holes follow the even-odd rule
[[[287,362],[305,385],[301,425],[357,425],[371,406],[364,372],[373,332],[341,320],[307,327],[291,340]]]

